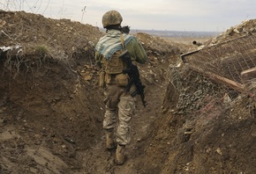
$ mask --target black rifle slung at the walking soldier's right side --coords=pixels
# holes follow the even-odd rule
[[[145,85],[143,85],[139,79],[139,69],[136,65],[134,65],[132,63],[132,59],[131,56],[129,54],[129,52],[127,50],[124,51],[123,54],[119,55],[119,57],[127,64],[128,69],[124,69],[123,73],[124,74],[128,74],[130,80],[125,88],[125,91],[129,92],[132,84],[134,83],[136,86],[136,91],[132,92],[131,96],[135,96],[136,94],[139,94],[141,101],[144,105],[144,107],[146,107],[147,102],[144,100],[145,96],[144,96],[144,88],[146,87]]]

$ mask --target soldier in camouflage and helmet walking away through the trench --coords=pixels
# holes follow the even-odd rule
[[[119,55],[126,49],[132,61],[147,61],[147,53],[139,41],[132,35],[122,32],[122,21],[123,18],[118,11],[106,12],[102,17],[102,25],[106,28],[107,34],[95,46],[95,61],[102,68],[100,86],[104,88],[106,106],[103,120],[106,148],[114,149],[117,144],[117,164],[124,164],[125,146],[131,141],[131,119],[135,110],[135,98],[131,94],[136,91],[134,84],[130,91],[125,91],[129,76],[123,73],[127,65]]]

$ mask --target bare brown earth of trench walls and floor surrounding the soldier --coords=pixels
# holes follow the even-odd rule
[[[149,56],[139,65],[148,105],[137,98],[128,160],[119,166],[105,149],[94,64],[104,33],[23,11],[0,11],[0,23],[0,173],[256,173],[254,98],[181,62],[196,46],[135,34]],[[252,34],[256,23],[248,24]]]

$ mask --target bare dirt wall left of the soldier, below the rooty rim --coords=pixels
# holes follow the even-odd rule
[[[31,173],[36,169],[35,173],[58,173],[70,170],[68,165],[79,168],[76,150],[91,148],[97,140],[94,136],[101,137],[102,132],[94,130],[102,130],[102,91],[93,82],[84,81],[66,62],[49,59],[40,67],[28,69],[20,64],[17,72],[4,67],[4,61],[6,57],[2,54],[0,172]],[[54,163],[61,167],[46,168],[40,161],[34,163],[38,158],[33,155],[35,152],[41,156],[49,154],[43,157],[48,163],[51,158],[60,158],[60,163]],[[8,156],[15,157],[15,162],[9,161]],[[23,166],[34,163],[34,167],[19,168],[17,163]]]

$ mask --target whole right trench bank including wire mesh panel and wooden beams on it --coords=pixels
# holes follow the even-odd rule
[[[165,117],[155,126],[147,149],[147,156],[161,151],[164,162],[148,172],[255,172],[255,76],[247,81],[241,76],[255,67],[252,31],[255,20],[231,27],[213,44],[183,54],[181,66],[169,66]],[[151,156],[145,160],[157,163]]]

